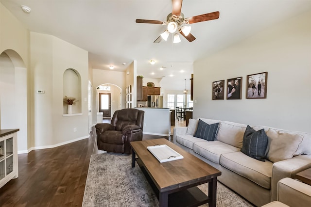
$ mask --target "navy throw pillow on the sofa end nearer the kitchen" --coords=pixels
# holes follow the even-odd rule
[[[215,141],[218,125],[219,123],[209,125],[199,119],[198,127],[193,136],[207,141]]]

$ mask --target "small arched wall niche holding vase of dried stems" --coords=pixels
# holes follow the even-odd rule
[[[73,68],[65,70],[63,75],[63,97],[75,98],[72,104],[72,114],[82,113],[82,95],[81,95],[81,76],[78,71]],[[68,104],[63,101],[63,114],[68,114]]]

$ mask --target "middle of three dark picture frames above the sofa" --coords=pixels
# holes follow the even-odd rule
[[[242,77],[227,79],[227,99],[242,99]]]

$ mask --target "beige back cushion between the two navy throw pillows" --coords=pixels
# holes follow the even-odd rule
[[[216,140],[242,148],[243,135],[247,125],[234,122],[220,122]]]

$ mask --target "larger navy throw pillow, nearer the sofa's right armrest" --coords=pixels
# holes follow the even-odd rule
[[[251,158],[265,161],[264,158],[267,146],[268,136],[264,129],[256,131],[247,125],[243,136],[241,152]]]

